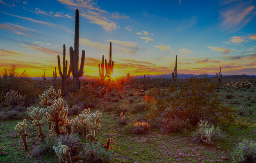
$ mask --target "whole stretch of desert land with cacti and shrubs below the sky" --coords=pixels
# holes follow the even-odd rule
[[[172,79],[113,77],[111,42],[100,81],[81,80],[78,43],[76,10],[60,78],[56,67],[38,81],[13,64],[2,71],[0,162],[256,162],[255,82],[225,82],[221,68],[178,79],[177,56]]]

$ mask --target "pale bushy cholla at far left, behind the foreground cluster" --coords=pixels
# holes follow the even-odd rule
[[[6,102],[9,103],[13,108],[19,105],[26,96],[21,96],[20,94],[18,95],[18,91],[10,90],[6,93],[4,97]]]

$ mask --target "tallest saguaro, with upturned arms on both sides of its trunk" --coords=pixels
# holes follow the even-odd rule
[[[82,50],[82,58],[80,69],[78,70],[78,62],[79,62],[79,11],[76,9],[76,26],[75,26],[75,43],[74,43],[74,51],[72,46],[69,48],[69,57],[70,57],[70,67],[73,75],[73,92],[76,92],[79,89],[80,81],[79,77],[84,74],[84,56],[85,51]]]

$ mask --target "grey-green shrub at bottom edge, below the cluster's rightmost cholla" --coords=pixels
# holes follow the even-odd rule
[[[102,158],[104,162],[110,162],[113,158],[113,150],[107,150],[101,146],[100,141],[94,141],[91,144],[86,143],[84,145],[84,150],[79,154],[85,162],[93,162],[90,157],[90,153],[88,152],[89,150],[92,150],[96,158]]]

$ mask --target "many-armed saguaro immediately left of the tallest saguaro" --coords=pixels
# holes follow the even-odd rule
[[[68,69],[68,61],[66,60],[66,46],[63,44],[63,66],[62,66],[62,72],[61,72],[61,66],[60,66],[60,56],[58,55],[58,67],[59,67],[59,74],[61,77],[61,90],[64,91],[66,87],[66,79],[69,77],[71,69],[69,65]],[[68,72],[68,74],[67,74]]]

